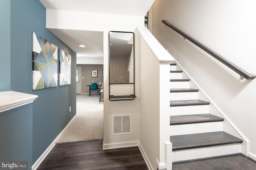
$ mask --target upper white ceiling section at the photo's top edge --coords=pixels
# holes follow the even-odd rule
[[[39,0],[46,9],[145,16],[154,0]],[[146,10],[145,10],[146,9]]]

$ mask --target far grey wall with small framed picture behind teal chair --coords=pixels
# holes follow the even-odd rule
[[[81,93],[89,93],[89,87],[86,85],[92,84],[92,80],[94,80],[94,82],[97,84],[99,84],[100,81],[103,83],[103,64],[76,64],[76,66],[81,67]],[[98,70],[98,77],[92,77],[92,70]]]

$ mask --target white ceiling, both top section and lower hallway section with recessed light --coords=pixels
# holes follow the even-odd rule
[[[39,0],[46,9],[145,16],[154,0]],[[103,32],[49,29],[83,58],[103,58]],[[78,45],[86,45],[85,48]]]

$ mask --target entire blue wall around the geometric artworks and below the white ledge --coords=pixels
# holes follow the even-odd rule
[[[76,53],[46,29],[46,9],[39,0],[1,0],[0,11],[0,20],[6,24],[0,31],[6,30],[4,43],[7,42],[0,44],[4,45],[7,55],[4,60],[1,55],[0,63],[4,64],[0,68],[0,91],[38,95],[32,104],[0,113],[0,160],[28,161],[28,169],[31,169],[76,114]],[[2,13],[6,14],[4,18]],[[58,87],[32,90],[33,32],[72,56],[70,85],[59,86],[58,83]],[[2,80],[7,83],[2,84]],[[16,137],[18,133],[24,135]],[[21,150],[8,152],[11,148]]]

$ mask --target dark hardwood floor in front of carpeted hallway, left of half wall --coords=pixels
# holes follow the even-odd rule
[[[57,144],[37,170],[148,170],[138,147],[102,146],[103,141]]]

